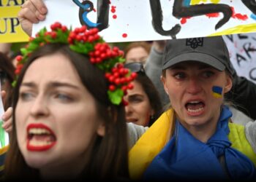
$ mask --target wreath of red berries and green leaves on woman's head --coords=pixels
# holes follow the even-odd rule
[[[97,28],[87,30],[83,25],[80,28],[67,28],[61,23],[54,23],[50,25],[51,31],[47,31],[46,28],[42,28],[37,33],[35,38],[30,38],[29,43],[25,48],[21,48],[21,55],[16,57],[18,61],[15,74],[16,79],[12,82],[14,87],[18,75],[20,74],[23,64],[32,52],[49,43],[63,43],[69,44],[69,48],[75,52],[83,55],[89,55],[89,60],[97,68],[105,71],[105,78],[108,79],[108,98],[111,103],[119,105],[121,102],[127,105],[127,102],[123,100],[124,95],[127,94],[128,89],[133,88],[132,82],[137,74],[131,73],[129,69],[124,68],[124,53],[118,49],[118,47],[110,48],[101,36],[98,34]]]

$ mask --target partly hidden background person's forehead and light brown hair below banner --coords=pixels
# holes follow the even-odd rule
[[[146,64],[151,44],[147,41],[135,41],[124,48],[124,58],[126,63],[140,62]]]

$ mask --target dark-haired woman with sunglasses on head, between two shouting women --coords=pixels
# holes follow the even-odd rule
[[[144,127],[150,127],[155,119],[162,114],[162,103],[156,87],[145,74],[142,63],[126,63],[125,68],[136,72],[138,76],[132,82],[134,87],[127,90],[124,100],[127,122],[133,122]]]

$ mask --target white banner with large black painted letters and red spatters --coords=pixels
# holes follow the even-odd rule
[[[249,0],[45,0],[47,19],[33,35],[59,21],[97,27],[105,41],[145,41],[256,32]]]

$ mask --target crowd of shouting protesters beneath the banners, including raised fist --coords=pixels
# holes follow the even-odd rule
[[[29,36],[46,17],[42,0],[18,14]],[[0,44],[1,179],[256,179],[256,84],[236,74],[222,36],[122,52],[74,29],[53,23],[23,52]]]

